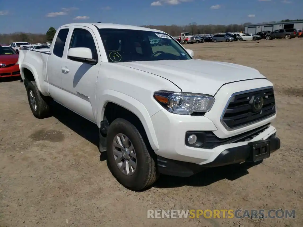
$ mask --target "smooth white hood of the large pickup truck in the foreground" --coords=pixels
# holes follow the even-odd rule
[[[215,95],[223,84],[266,78],[258,70],[242,65],[205,60],[133,61],[115,63],[163,77],[182,92]]]

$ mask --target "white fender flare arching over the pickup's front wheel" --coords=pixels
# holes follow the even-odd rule
[[[103,94],[100,94],[100,97],[102,97],[102,99],[99,99],[100,105],[98,106],[97,114],[96,114],[97,125],[99,128],[100,128],[100,123],[104,117],[106,104],[108,102],[115,103],[129,110],[130,112],[134,113],[139,118],[145,130],[151,148],[153,150],[159,149],[159,144],[156,137],[154,126],[151,121],[151,116],[148,114],[147,109],[141,102],[126,94],[120,93],[115,90],[105,90]]]

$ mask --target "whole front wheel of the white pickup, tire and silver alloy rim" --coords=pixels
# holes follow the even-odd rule
[[[122,118],[114,120],[106,138],[108,164],[119,183],[138,191],[158,179],[155,159],[132,123]]]

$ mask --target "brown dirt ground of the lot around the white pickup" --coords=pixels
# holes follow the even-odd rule
[[[236,165],[190,178],[161,176],[151,189],[132,192],[100,161],[96,126],[59,105],[53,117],[38,120],[23,83],[1,80],[0,226],[302,226],[303,39],[185,47],[195,58],[254,67],[274,83],[280,150],[249,169]],[[147,209],[296,213],[295,219],[147,219]]]

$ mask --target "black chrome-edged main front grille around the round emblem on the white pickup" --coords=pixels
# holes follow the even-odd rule
[[[253,101],[258,97],[262,97],[264,102],[261,109],[256,110]],[[274,89],[270,87],[263,90],[253,90],[244,94],[236,94],[231,97],[223,113],[221,122],[225,128],[235,129],[264,120],[275,113]]]

